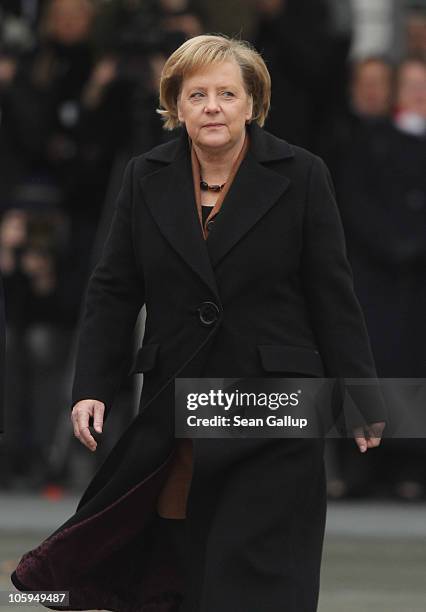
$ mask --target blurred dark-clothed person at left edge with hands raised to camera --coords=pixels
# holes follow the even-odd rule
[[[65,398],[73,287],[64,262],[64,219],[10,208],[0,223],[7,311],[5,457],[2,486],[40,487]],[[71,315],[72,317],[72,315]]]

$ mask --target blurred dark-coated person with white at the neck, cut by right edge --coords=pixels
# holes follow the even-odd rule
[[[423,30],[424,32],[424,30]],[[426,377],[426,63],[417,55],[398,70],[394,130],[390,131],[387,197],[400,198],[410,222],[401,228],[400,250],[407,262],[406,376]],[[396,193],[391,193],[392,187]],[[409,267],[408,267],[409,265]],[[396,495],[406,500],[426,497],[426,444],[422,439],[391,440],[377,460],[393,466]]]

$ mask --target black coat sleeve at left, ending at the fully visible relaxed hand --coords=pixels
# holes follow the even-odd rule
[[[133,242],[134,163],[135,158],[126,167],[103,253],[89,279],[72,389],[72,406],[81,399],[104,402],[104,420],[121,383],[145,302]]]

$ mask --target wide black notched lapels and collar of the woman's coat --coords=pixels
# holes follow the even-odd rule
[[[150,211],[163,236],[220,302],[214,268],[287,190],[290,180],[265,164],[294,156],[284,140],[249,126],[250,149],[204,240],[197,214],[186,130],[145,154],[161,166],[140,179]]]

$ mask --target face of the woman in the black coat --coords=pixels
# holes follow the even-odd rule
[[[204,149],[230,149],[244,137],[253,102],[235,61],[212,64],[188,75],[178,98],[179,121]]]

